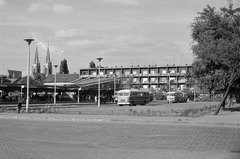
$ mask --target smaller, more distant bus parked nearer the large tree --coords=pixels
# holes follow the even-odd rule
[[[187,95],[182,92],[167,92],[168,103],[182,103],[187,102]]]

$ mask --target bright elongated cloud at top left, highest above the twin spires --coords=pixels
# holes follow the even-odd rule
[[[47,1],[40,1],[38,3],[32,3],[29,7],[30,12],[37,12],[39,10],[49,10],[54,13],[66,13],[71,12],[73,7],[62,3],[49,3]]]

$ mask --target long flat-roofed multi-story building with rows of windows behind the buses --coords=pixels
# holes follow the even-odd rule
[[[98,76],[99,68],[80,69],[80,78]],[[101,77],[117,77],[121,79],[122,88],[168,88],[182,90],[186,82],[186,73],[192,71],[191,65],[184,66],[147,66],[147,67],[111,67],[101,68]]]

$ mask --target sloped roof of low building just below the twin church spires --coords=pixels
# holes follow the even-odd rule
[[[59,82],[69,83],[78,79],[79,75],[78,74],[57,74],[56,78],[57,78],[56,80],[57,83]],[[43,83],[55,83],[55,74],[48,75],[44,79]]]

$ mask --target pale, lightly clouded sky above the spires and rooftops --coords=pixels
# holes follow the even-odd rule
[[[239,0],[232,0],[234,8]],[[101,66],[191,64],[190,24],[207,5],[227,0],[0,0],[0,74],[26,74],[36,46],[41,71],[49,43],[53,64],[67,60],[70,73]]]

